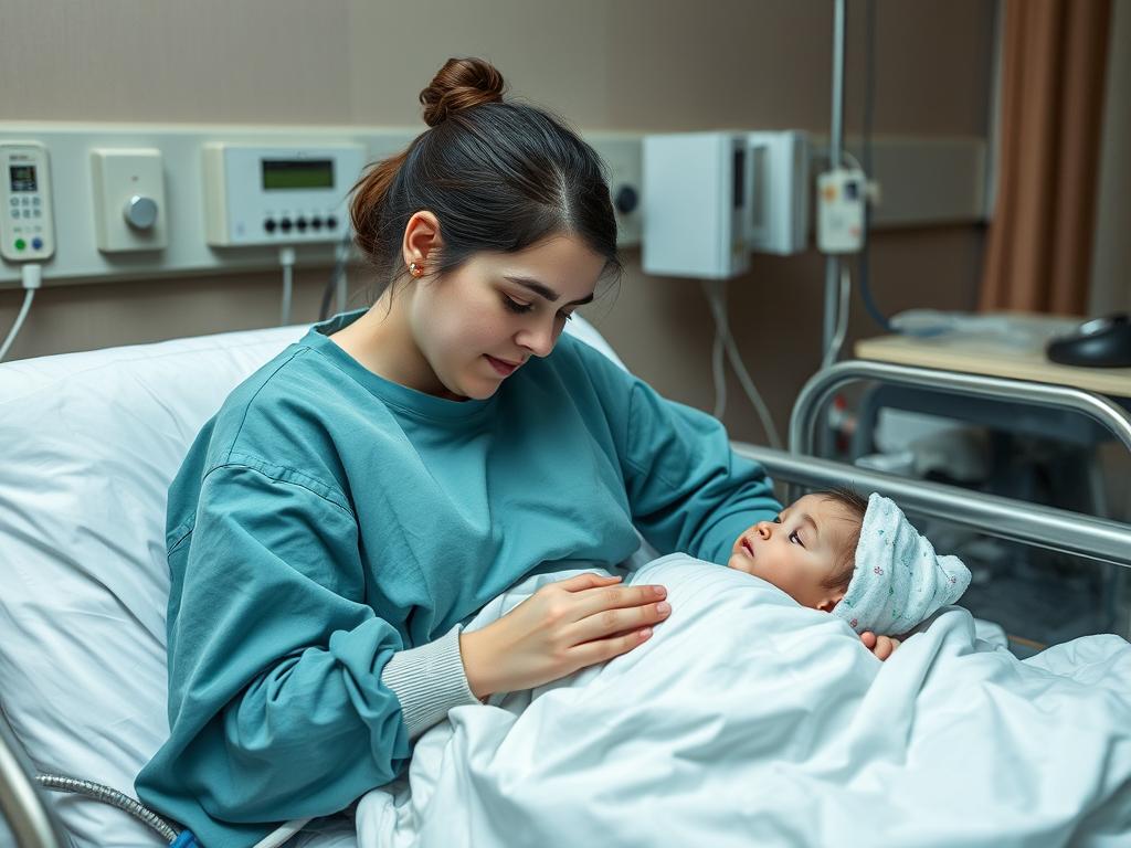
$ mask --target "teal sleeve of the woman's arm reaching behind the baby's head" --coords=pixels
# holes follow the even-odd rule
[[[761,466],[739,457],[706,413],[636,380],[625,427],[632,520],[656,550],[725,563],[739,534],[780,511]]]

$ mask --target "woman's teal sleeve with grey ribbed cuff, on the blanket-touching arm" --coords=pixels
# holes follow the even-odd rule
[[[455,654],[450,638],[404,651],[392,676],[416,698],[406,727],[382,681],[405,646],[364,603],[356,522],[340,494],[297,471],[250,458],[210,471],[170,565],[172,737],[138,788],[209,848],[348,805],[396,776],[412,730],[470,695],[458,631]],[[422,669],[428,685],[414,683]]]

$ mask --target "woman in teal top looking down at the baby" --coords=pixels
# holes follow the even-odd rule
[[[714,418],[562,327],[620,271],[594,152],[480,60],[355,190],[389,285],[252,375],[170,490],[171,738],[139,796],[208,848],[342,810],[455,706],[631,650],[661,587],[593,576],[463,634],[493,596],[639,545],[724,563],[779,510]]]

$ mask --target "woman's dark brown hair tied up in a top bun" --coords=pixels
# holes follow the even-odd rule
[[[502,75],[482,59],[449,59],[421,92],[430,129],[374,163],[354,187],[357,244],[383,282],[405,275],[408,219],[428,209],[443,249],[430,274],[480,251],[515,252],[571,234],[620,275],[616,219],[601,158],[543,110],[503,99]]]

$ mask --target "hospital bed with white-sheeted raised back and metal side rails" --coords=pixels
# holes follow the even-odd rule
[[[167,734],[169,483],[225,396],[303,331],[225,334],[0,366],[0,813],[7,822],[0,843],[153,846],[178,838],[175,828],[162,836],[81,794],[49,793],[34,775],[132,794],[137,771]],[[584,321],[569,331],[619,362]],[[843,381],[956,379],[886,367],[846,364],[818,374],[794,412],[792,452],[737,450],[795,485],[851,483],[910,511],[1131,565],[1125,525],[806,456],[817,415]],[[1131,422],[1099,398],[1067,399],[1048,387],[1002,380],[975,388],[1086,408],[1131,447]],[[344,848],[356,840],[342,817],[309,824],[288,845]]]

